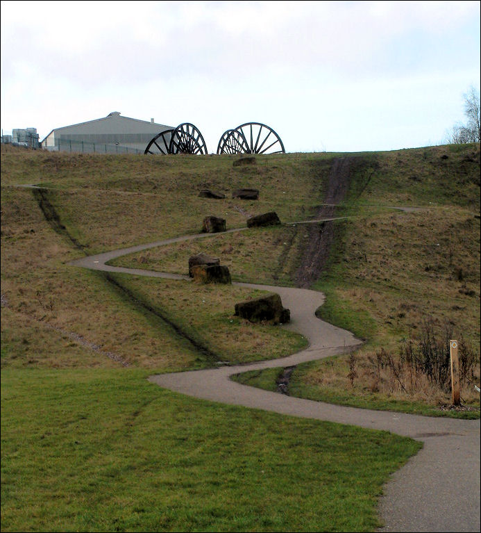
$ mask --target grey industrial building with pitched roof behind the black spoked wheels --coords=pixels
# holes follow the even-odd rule
[[[153,118],[148,122],[122,117],[114,111],[103,118],[53,129],[42,140],[42,147],[58,151],[144,154],[152,138],[167,129],[172,126],[157,124]]]

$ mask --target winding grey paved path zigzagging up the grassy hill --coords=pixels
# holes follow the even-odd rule
[[[78,259],[71,264],[107,272],[189,279],[177,274],[113,267],[106,265],[106,262],[152,247],[208,237],[212,237],[212,233],[161,240]],[[390,411],[340,407],[262,391],[231,381],[229,377],[239,372],[297,365],[346,352],[361,343],[349,331],[316,318],[314,312],[324,301],[322,293],[298,288],[236,285],[278,293],[282,304],[291,312],[290,324],[283,327],[303,334],[310,341],[309,347],[283,359],[242,366],[222,366],[212,370],[155,375],[150,378],[151,382],[204,400],[369,429],[383,429],[423,441],[423,449],[398,470],[384,488],[379,513],[385,521],[385,527],[380,531],[479,532],[480,420],[430,418]]]

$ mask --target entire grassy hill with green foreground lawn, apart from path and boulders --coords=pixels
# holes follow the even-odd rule
[[[332,222],[314,284],[328,295],[319,313],[366,338],[366,358],[381,347],[397,352],[428,317],[440,331],[447,320],[475,350],[479,145],[258,156],[242,167],[233,156],[1,149],[2,530],[375,530],[380,487],[419,443],[194,401],[146,382],[154,372],[303,347],[301,336],[233,315],[235,302],[258,291],[68,263],[198,233],[207,215],[228,228],[267,211],[282,222],[309,220],[323,205],[332,161],[353,158],[348,194],[334,211],[347,218]],[[30,183],[42,188],[19,187]],[[226,198],[200,198],[205,188]],[[235,188],[258,188],[260,199],[232,199]],[[406,205],[423,211],[392,208]],[[203,251],[239,281],[289,285],[310,231],[323,229],[246,229],[119,261],[186,273],[189,256]],[[329,363],[331,399],[373,402],[372,383],[337,379],[348,361]],[[319,391],[319,372],[303,371],[299,394],[306,383]],[[474,372],[479,384],[479,351]]]

